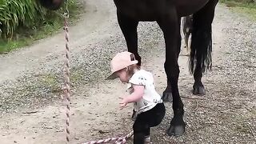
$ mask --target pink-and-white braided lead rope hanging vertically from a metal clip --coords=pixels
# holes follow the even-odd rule
[[[69,18],[69,10],[68,10],[68,0],[66,2],[66,10],[64,13],[64,27],[65,30],[65,49],[66,49],[66,62],[65,62],[65,89],[64,101],[66,102],[66,144],[70,142],[70,47],[69,47],[69,27],[68,27],[68,18]]]

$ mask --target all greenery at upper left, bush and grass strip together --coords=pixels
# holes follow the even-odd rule
[[[37,0],[0,0],[0,54],[31,45],[38,39],[62,30],[64,5],[50,11],[38,5]],[[69,23],[78,19],[84,6],[78,0],[69,0]],[[17,10],[16,10],[17,9]]]

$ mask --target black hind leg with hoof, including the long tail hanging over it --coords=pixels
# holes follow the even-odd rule
[[[193,94],[206,94],[202,84],[202,73],[211,69],[211,24],[217,3],[218,0],[211,0],[201,10],[193,14],[190,46],[190,71],[194,73]]]

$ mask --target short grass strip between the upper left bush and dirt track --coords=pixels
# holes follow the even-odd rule
[[[79,14],[82,14],[83,6],[77,1],[72,2],[69,5],[69,11],[69,22],[72,24],[78,20]],[[54,11],[53,14],[48,17],[49,19],[38,28],[32,28],[30,30],[24,28],[18,30],[17,36],[12,40],[7,41],[0,39],[0,54],[8,54],[11,50],[17,50],[22,46],[29,46],[39,39],[49,37],[62,30],[63,18],[60,12]]]

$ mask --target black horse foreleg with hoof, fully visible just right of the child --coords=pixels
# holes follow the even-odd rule
[[[181,34],[180,18],[178,18],[176,10],[171,8],[170,14],[158,20],[158,25],[163,31],[166,42],[165,70],[167,88],[171,88],[171,91],[165,91],[163,96],[166,96],[165,94],[169,94],[170,92],[173,95],[174,118],[170,122],[170,128],[167,130],[167,134],[181,135],[185,132],[185,122],[183,121],[183,103],[178,92],[178,54],[181,46]]]

